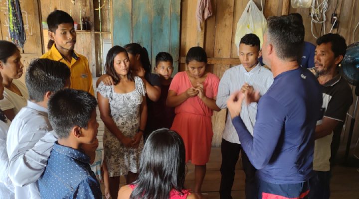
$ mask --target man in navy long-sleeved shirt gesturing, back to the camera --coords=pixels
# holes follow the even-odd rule
[[[227,102],[242,148],[258,169],[259,199],[304,198],[310,191],[323,98],[315,76],[297,61],[303,45],[303,23],[291,15],[270,17],[262,56],[272,69],[272,86],[262,97],[239,91]],[[244,100],[258,101],[253,136],[239,116]]]

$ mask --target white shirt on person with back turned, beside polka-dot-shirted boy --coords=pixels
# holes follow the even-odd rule
[[[6,147],[15,199],[40,199],[37,180],[57,140],[51,130],[47,109],[31,101],[12,120]]]

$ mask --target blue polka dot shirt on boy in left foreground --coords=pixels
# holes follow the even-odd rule
[[[101,189],[83,152],[54,144],[38,181],[41,199],[101,199]]]

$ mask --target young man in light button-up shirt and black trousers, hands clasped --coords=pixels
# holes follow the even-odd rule
[[[273,83],[273,75],[270,70],[262,67],[258,62],[260,53],[260,40],[255,34],[246,34],[240,41],[239,59],[241,65],[225,71],[219,82],[216,104],[220,108],[227,108],[229,96],[238,91],[259,92],[263,95]],[[243,103],[240,116],[250,133],[253,134],[257,103]],[[227,114],[226,124],[222,139],[222,165],[220,199],[232,199],[235,165],[238,161],[241,145],[231,117]],[[249,162],[247,155],[242,150],[242,165],[246,175],[245,194],[246,199],[256,198],[255,172],[256,169]]]

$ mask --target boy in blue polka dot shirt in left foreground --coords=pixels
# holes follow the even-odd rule
[[[90,158],[81,150],[96,142],[96,105],[91,94],[73,89],[50,98],[48,118],[58,140],[38,181],[41,199],[101,199]]]

